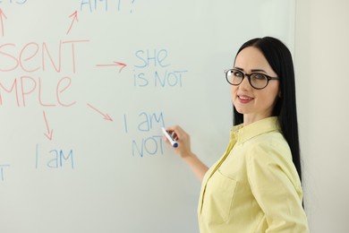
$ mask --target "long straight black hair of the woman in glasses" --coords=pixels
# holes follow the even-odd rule
[[[294,63],[290,50],[278,39],[265,37],[251,39],[243,44],[236,56],[245,47],[256,47],[266,57],[268,64],[280,78],[281,97],[273,111],[277,116],[281,132],[291,148],[294,166],[302,181],[301,152],[298,137],[297,109],[295,101]],[[236,59],[235,56],[235,59]],[[234,108],[234,107],[233,107]],[[234,125],[243,123],[243,114],[234,108]]]

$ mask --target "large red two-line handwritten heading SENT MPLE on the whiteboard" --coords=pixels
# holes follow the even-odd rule
[[[6,101],[14,100],[18,107],[26,107],[27,102],[33,98],[38,99],[38,104],[43,107],[74,105],[76,101],[71,97],[67,99],[65,95],[72,86],[72,78],[60,75],[55,81],[54,73],[76,73],[79,62],[77,47],[85,42],[89,40],[60,40],[55,49],[52,45],[48,46],[47,42],[29,42],[24,46],[0,44],[0,73],[3,72],[0,80],[0,106]],[[54,73],[50,73],[47,79],[43,78],[42,73],[45,72]],[[15,74],[10,78],[5,73],[26,74]]]

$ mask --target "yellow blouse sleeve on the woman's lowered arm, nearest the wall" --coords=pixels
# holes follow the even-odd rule
[[[309,232],[302,208],[302,186],[288,146],[253,146],[247,173],[254,195],[268,222],[268,233]]]

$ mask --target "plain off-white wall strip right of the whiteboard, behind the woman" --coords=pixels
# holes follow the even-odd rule
[[[349,1],[296,0],[295,71],[311,232],[349,232]]]

